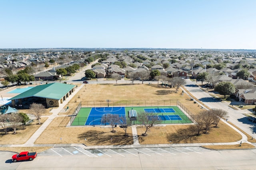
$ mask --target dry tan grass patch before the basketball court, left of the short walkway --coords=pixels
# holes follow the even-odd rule
[[[112,127],[65,127],[62,123],[68,117],[56,117],[54,121],[36,140],[36,144],[48,143],[84,143],[85,145],[132,145],[132,128],[128,127],[129,136],[124,136],[124,130],[115,127],[116,133],[110,132]],[[54,130],[53,130],[54,129]],[[60,140],[62,138],[62,140]],[[85,140],[86,139],[86,140]]]

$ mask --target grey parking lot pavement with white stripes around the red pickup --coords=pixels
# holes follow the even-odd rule
[[[256,149],[208,150],[202,147],[88,149],[55,147],[33,161],[12,162],[13,152],[0,152],[2,170],[253,170]]]

